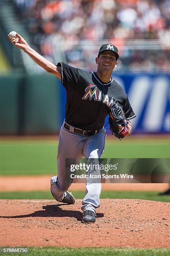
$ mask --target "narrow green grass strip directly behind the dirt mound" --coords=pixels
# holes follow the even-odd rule
[[[71,191],[75,198],[82,199],[84,191]],[[115,199],[143,199],[161,202],[170,202],[170,196],[159,196],[158,192],[151,191],[102,191],[100,198]],[[50,191],[31,191],[31,192],[0,192],[0,199],[54,199]]]

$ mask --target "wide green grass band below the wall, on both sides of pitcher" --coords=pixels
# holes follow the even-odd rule
[[[57,173],[57,140],[1,140],[0,175]],[[157,140],[109,140],[102,158],[169,158],[170,143]]]

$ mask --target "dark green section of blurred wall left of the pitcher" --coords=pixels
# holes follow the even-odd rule
[[[60,82],[50,74],[0,76],[0,135],[56,134]]]

